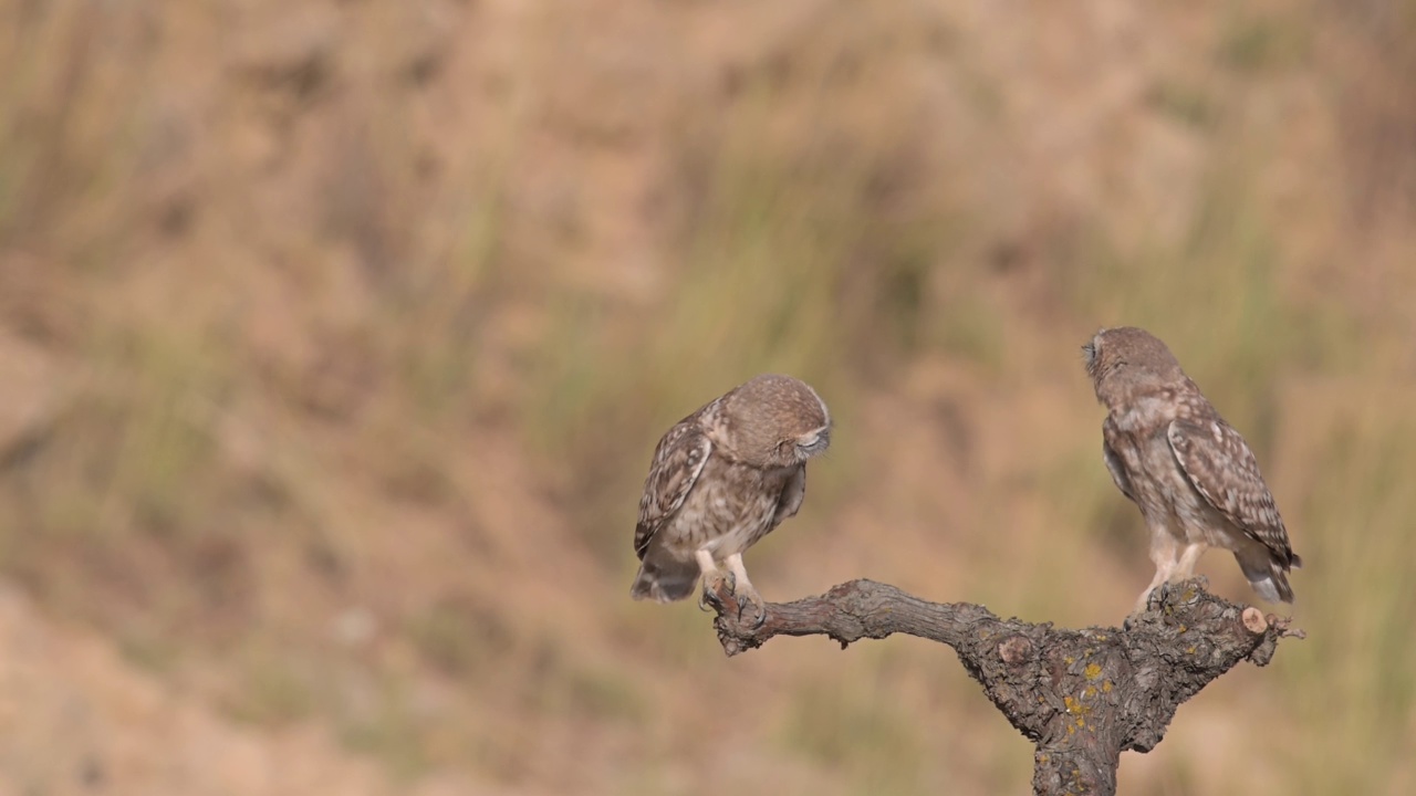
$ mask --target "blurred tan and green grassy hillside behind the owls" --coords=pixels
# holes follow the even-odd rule
[[[649,457],[837,435],[748,557],[1116,625],[1079,347],[1255,448],[1306,642],[1121,758],[1416,789],[1416,3],[0,0],[0,795],[1020,793],[944,647],[629,599]],[[1255,596],[1231,557],[1214,588]]]

